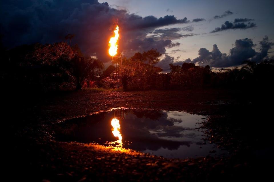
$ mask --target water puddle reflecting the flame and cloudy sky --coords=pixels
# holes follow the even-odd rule
[[[205,116],[181,111],[116,109],[59,123],[55,138],[112,144],[166,158],[226,154],[203,139],[206,130],[200,128],[202,121]]]

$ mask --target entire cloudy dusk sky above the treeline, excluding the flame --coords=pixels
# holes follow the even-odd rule
[[[75,34],[72,44],[107,64],[118,22],[119,51],[126,57],[156,48],[164,71],[183,61],[231,67],[274,55],[273,7],[273,0],[1,1],[0,27],[7,48]]]

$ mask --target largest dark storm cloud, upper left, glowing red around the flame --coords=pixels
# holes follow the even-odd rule
[[[141,17],[128,14],[126,10],[109,7],[97,0],[52,1],[1,1],[0,34],[3,43],[11,48],[35,42],[54,43],[65,41],[67,34],[75,34],[72,44],[78,44],[87,55],[96,55],[106,62],[108,41],[118,22],[120,26],[119,49],[126,56],[134,51],[157,48],[165,53],[165,47],[176,46],[171,40],[146,37],[155,28],[170,24],[190,22],[172,15],[161,18]]]

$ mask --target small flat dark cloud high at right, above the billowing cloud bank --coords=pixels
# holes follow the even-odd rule
[[[244,22],[242,23],[231,23],[229,21],[226,21],[225,24],[222,24],[221,28],[217,27],[214,30],[212,30],[210,33],[215,33],[215,32],[221,32],[223,30],[235,30],[235,29],[247,29],[247,28],[253,28],[256,27],[255,23],[247,23],[245,24]]]

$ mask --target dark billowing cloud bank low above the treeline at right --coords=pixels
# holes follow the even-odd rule
[[[230,67],[241,65],[243,61],[251,60],[259,62],[267,57],[267,52],[274,45],[273,42],[269,42],[267,36],[259,43],[260,51],[256,52],[253,47],[253,41],[248,38],[239,39],[235,41],[234,47],[230,49],[230,54],[221,53],[217,45],[213,45],[212,51],[205,48],[199,49],[199,57],[186,60],[187,63],[194,63],[201,66],[209,65],[211,67]]]

